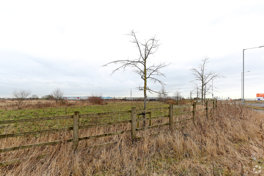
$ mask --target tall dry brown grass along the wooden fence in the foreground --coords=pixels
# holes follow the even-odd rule
[[[81,141],[76,154],[72,143],[1,154],[1,161],[29,157],[0,167],[0,175],[253,175],[263,167],[264,115],[241,106],[218,104],[207,120],[188,122],[185,128],[168,127],[137,132],[142,139],[132,144],[130,134]],[[161,123],[166,122],[164,120]],[[181,126],[175,125],[176,127]],[[129,125],[80,131],[80,136],[129,129]],[[159,132],[155,136],[151,134]],[[2,139],[1,148],[71,138],[71,132]],[[102,148],[89,146],[118,141]],[[37,155],[48,153],[43,159]],[[257,159],[252,159],[251,156]],[[259,162],[259,163],[258,163]],[[263,170],[263,169],[262,169]],[[263,171],[259,175],[263,175]],[[256,174],[257,175],[257,174]]]

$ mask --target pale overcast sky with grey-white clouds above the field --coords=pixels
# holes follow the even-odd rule
[[[137,58],[131,30],[140,41],[156,34],[160,48],[151,63],[161,70],[165,89],[193,89],[190,69],[209,57],[213,94],[241,98],[243,49],[264,45],[264,1],[1,1],[0,97],[30,89],[39,97],[55,88],[65,95],[143,97],[143,80],[130,69],[110,76],[118,65]],[[264,93],[264,47],[245,50],[245,98]],[[161,85],[147,83],[154,90]],[[220,93],[219,93],[220,92]],[[148,96],[157,96],[149,94]],[[208,98],[211,98],[208,95]]]

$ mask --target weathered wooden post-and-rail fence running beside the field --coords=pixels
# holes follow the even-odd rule
[[[21,133],[9,133],[9,134],[1,134],[0,139],[2,138],[10,138],[10,137],[17,137],[17,136],[28,136],[28,135],[35,135],[35,134],[44,134],[44,133],[52,133],[52,132],[61,132],[61,131],[73,131],[73,138],[72,139],[67,139],[66,142],[72,142],[73,144],[73,150],[76,151],[78,148],[79,141],[81,140],[87,140],[87,139],[95,139],[95,138],[100,138],[100,137],[105,137],[105,136],[113,136],[113,135],[118,135],[122,133],[128,133],[131,132],[131,139],[135,140],[136,138],[139,138],[136,136],[136,131],[141,131],[149,128],[157,128],[161,126],[166,126],[169,125],[169,128],[172,129],[172,125],[175,123],[179,122],[184,122],[188,120],[193,120],[193,124],[196,125],[196,112],[199,111],[206,111],[204,114],[208,118],[208,110],[211,108],[216,108],[216,100],[212,101],[206,101],[205,103],[196,103],[194,102],[193,104],[187,104],[187,105],[178,105],[174,106],[173,104],[170,104],[169,107],[158,107],[158,108],[150,108],[150,109],[136,109],[136,107],[131,107],[131,110],[126,110],[126,111],[117,111],[117,112],[106,112],[106,113],[92,113],[92,114],[79,114],[78,111],[74,111],[73,115],[69,116],[55,116],[55,117],[41,117],[41,118],[31,118],[31,119],[14,119],[14,120],[2,120],[0,121],[0,125],[2,124],[12,124],[12,123],[22,123],[22,122],[39,122],[39,121],[46,121],[46,120],[58,120],[58,119],[73,119],[73,126],[72,127],[67,127],[67,128],[56,128],[56,129],[48,129],[48,130],[38,130],[38,131],[28,131],[28,132],[21,132]],[[212,106],[208,106],[209,104],[212,104]],[[205,105],[206,107],[203,109],[196,109],[197,105]],[[192,107],[192,111],[187,111],[187,112],[181,112],[181,113],[173,113],[173,109],[175,108],[181,108],[181,107]],[[151,111],[155,110],[169,110],[169,114],[163,115],[163,116],[155,116],[151,117]],[[145,112],[145,114],[149,114],[149,117],[147,118],[136,118],[139,115],[142,115],[142,112]],[[213,112],[213,111],[212,111]],[[118,114],[125,114],[125,113],[131,113],[131,120],[125,120],[125,121],[118,121],[118,122],[108,122],[108,123],[100,123],[100,124],[92,124],[92,125],[82,125],[79,126],[79,118],[87,118],[87,117],[93,117],[93,116],[106,116],[106,115],[118,115]],[[192,118],[189,119],[184,119],[180,121],[173,121],[174,116],[179,116],[183,114],[189,114],[192,113]],[[151,120],[154,119],[162,119],[162,118],[169,118],[169,123],[164,123],[164,124],[158,124],[158,125],[153,125],[151,126]],[[138,123],[140,121],[149,121],[149,126],[139,128]],[[112,132],[112,133],[104,133],[104,134],[98,134],[94,136],[86,136],[86,137],[79,137],[79,130],[80,129],[86,129],[86,128],[94,128],[94,127],[103,127],[103,126],[110,126],[110,125],[118,125],[118,124],[127,124],[131,123],[131,130],[125,130],[125,131],[117,131],[117,132]],[[1,148],[0,153],[3,152],[8,152],[8,151],[15,151],[15,150],[21,150],[21,149],[26,149],[26,148],[36,148],[36,147],[41,147],[41,146],[47,146],[47,145],[54,145],[54,144],[59,144],[63,142],[62,140],[57,140],[57,141],[50,141],[50,142],[43,142],[43,143],[37,143],[37,144],[30,144],[30,145],[22,145],[22,146],[16,146],[16,147],[10,147],[10,148]],[[101,147],[101,146],[107,146],[114,144],[116,142],[109,142],[109,143],[104,143],[104,144],[99,144],[95,145],[94,147]],[[39,157],[45,157],[47,154]],[[16,160],[10,160],[10,161],[2,161],[0,162],[1,165],[7,165],[11,163],[16,163],[19,162],[18,159]]]

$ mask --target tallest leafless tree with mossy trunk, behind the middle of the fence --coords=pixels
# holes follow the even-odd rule
[[[159,91],[154,91],[150,87],[147,86],[147,80],[151,80],[154,83],[158,83],[161,85],[165,85],[162,81],[160,81],[156,76],[165,76],[164,73],[160,71],[163,67],[168,66],[170,63],[160,62],[159,64],[149,64],[149,56],[154,54],[157,49],[159,48],[159,40],[156,39],[156,36],[145,40],[144,43],[139,42],[139,40],[136,37],[136,32],[131,31],[128,36],[131,36],[131,42],[136,45],[136,48],[138,49],[139,58],[136,59],[128,59],[128,60],[116,60],[110,63],[107,63],[103,66],[107,66],[108,64],[120,64],[117,69],[114,69],[111,73],[111,75],[122,69],[125,71],[126,68],[130,67],[133,68],[134,73],[138,74],[140,78],[142,78],[144,84],[143,86],[139,85],[139,87],[136,87],[138,90],[143,90],[144,92],[144,109],[147,105],[147,91],[150,93],[156,92],[160,93]],[[149,65],[148,65],[149,64]],[[144,114],[144,113],[143,113]],[[143,116],[145,118],[145,115]]]

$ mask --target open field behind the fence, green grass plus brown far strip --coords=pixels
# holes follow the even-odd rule
[[[1,102],[1,101],[0,101]],[[79,111],[80,114],[90,114],[90,113],[102,113],[102,112],[113,112],[122,110],[131,110],[131,107],[137,106],[137,102],[134,101],[107,101],[107,105],[90,105],[87,101],[67,101],[67,103],[56,106],[52,101],[30,101],[24,102],[27,107],[32,107],[37,104],[36,108],[24,108],[16,109],[16,105],[7,108],[7,104],[14,103],[13,101],[2,102],[2,108],[0,109],[0,120],[12,120],[12,119],[28,119],[28,118],[38,118],[38,117],[51,117],[51,116],[66,116],[73,115],[73,111]],[[38,108],[39,104],[44,104],[43,106],[50,105],[50,107]],[[30,104],[30,105],[28,105]],[[81,104],[81,105],[80,105]],[[9,105],[10,106],[10,105]],[[162,104],[160,102],[149,102],[147,108],[154,107],[169,107],[169,104]],[[137,108],[139,109],[139,108]],[[159,111],[159,113],[162,113]],[[90,119],[81,119],[80,125],[89,125],[95,123],[104,122],[115,122],[121,120],[129,120],[130,114],[127,115],[111,115],[111,116],[97,116]],[[22,131],[35,131],[44,130],[52,128],[63,128],[72,126],[72,122],[69,120],[53,120],[45,122],[28,122],[22,124],[10,124],[1,125],[0,133],[8,132],[22,132]],[[4,131],[5,130],[5,131]]]

